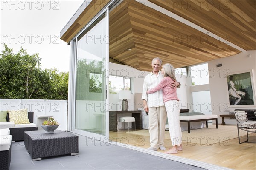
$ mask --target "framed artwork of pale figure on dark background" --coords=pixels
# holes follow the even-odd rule
[[[228,74],[227,90],[230,106],[255,106],[252,71]]]

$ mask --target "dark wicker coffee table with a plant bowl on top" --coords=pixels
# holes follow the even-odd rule
[[[60,130],[55,130],[52,134],[46,134],[44,130],[26,131],[24,145],[32,161],[49,156],[78,154],[78,136]]]

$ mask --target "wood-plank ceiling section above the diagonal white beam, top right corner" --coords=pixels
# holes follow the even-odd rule
[[[247,37],[241,36],[241,32],[243,34],[255,33],[255,30],[251,29],[251,27],[255,28],[256,25],[256,4],[254,0],[166,0],[164,3],[163,1],[149,1],[209,30],[219,37],[229,38],[230,42],[241,48],[255,50],[254,41],[250,41],[250,39],[248,42]],[[182,6],[180,6],[181,4]],[[196,4],[196,8],[192,8],[194,6],[191,4]],[[239,10],[237,10],[238,8]],[[241,17],[234,17],[232,13]]]

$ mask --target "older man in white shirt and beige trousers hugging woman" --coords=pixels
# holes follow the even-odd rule
[[[157,57],[152,60],[153,70],[145,77],[142,92],[144,110],[148,112],[149,116],[150,147],[148,149],[154,151],[157,151],[157,148],[166,150],[164,147],[164,131],[167,113],[163,103],[162,90],[152,94],[147,94],[146,91],[149,88],[154,88],[163,79],[163,75],[159,71],[161,65],[162,60],[160,58]],[[173,86],[179,87],[180,83],[174,82]]]

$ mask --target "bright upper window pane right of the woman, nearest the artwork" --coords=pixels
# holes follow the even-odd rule
[[[208,64],[191,66],[189,76],[191,77],[192,85],[209,84]]]

